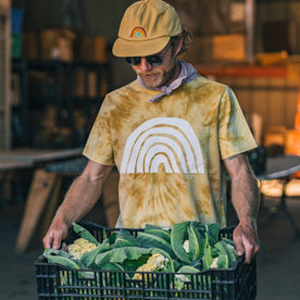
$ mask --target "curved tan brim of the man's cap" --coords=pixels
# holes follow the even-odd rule
[[[150,40],[126,40],[117,38],[113,45],[112,52],[115,57],[147,57],[160,52],[168,42],[170,36],[159,37]]]

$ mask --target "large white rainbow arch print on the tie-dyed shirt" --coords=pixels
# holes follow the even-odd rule
[[[146,121],[128,137],[120,173],[203,174],[203,158],[199,140],[183,118],[155,117]]]

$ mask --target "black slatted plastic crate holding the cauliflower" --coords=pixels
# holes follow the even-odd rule
[[[117,228],[85,223],[93,236],[101,241],[103,233],[108,236]],[[136,235],[142,229],[127,229]],[[221,229],[221,237],[233,237],[233,227]],[[71,230],[68,242],[77,236]],[[255,261],[245,264],[238,258],[232,268],[212,268],[190,275],[182,290],[176,287],[176,273],[141,272],[141,279],[128,279],[134,272],[72,270],[48,263],[40,255],[35,262],[38,299],[226,299],[253,300],[257,296]],[[83,278],[80,272],[88,272]]]

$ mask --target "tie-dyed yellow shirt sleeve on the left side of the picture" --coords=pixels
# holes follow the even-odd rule
[[[104,165],[115,164],[110,129],[110,100],[108,96],[92,125],[83,154]]]

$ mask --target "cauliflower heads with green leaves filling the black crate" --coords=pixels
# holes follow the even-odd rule
[[[182,288],[189,280],[183,273],[228,268],[236,261],[235,245],[218,239],[217,224],[187,221],[171,228],[148,224],[136,236],[127,229],[110,236],[104,232],[101,242],[76,223],[73,230],[79,238],[68,245],[68,252],[46,249],[43,257],[50,263],[80,270],[82,277],[89,276],[88,270],[125,271],[137,280],[145,272],[172,272],[177,273],[177,287]]]

